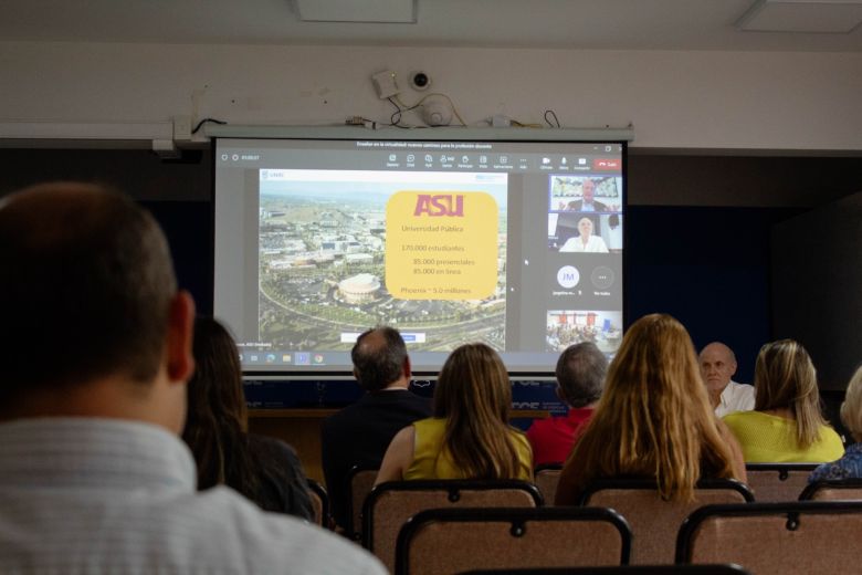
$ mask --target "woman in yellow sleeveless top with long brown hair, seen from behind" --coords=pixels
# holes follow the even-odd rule
[[[533,479],[526,437],[508,425],[512,385],[500,356],[484,344],[462,345],[446,359],[434,389],[434,417],[399,431],[377,483],[402,479]]]

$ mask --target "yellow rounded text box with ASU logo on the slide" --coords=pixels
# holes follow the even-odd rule
[[[395,194],[386,289],[399,300],[483,300],[497,284],[497,202],[483,191]]]

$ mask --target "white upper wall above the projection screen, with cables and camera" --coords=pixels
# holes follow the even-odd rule
[[[402,85],[425,70],[469,123],[553,108],[568,127],[631,122],[635,147],[862,150],[860,53],[2,42],[0,138],[22,122],[385,121],[369,76],[386,69]]]

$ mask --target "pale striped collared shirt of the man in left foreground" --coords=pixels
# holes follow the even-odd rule
[[[0,573],[386,573],[231,489],[197,492],[179,438],[119,419],[0,425]]]

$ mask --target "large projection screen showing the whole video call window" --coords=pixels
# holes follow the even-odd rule
[[[518,374],[578,342],[610,356],[623,158],[620,143],[219,139],[216,316],[246,373],[349,377],[381,324],[420,375],[476,342]]]

